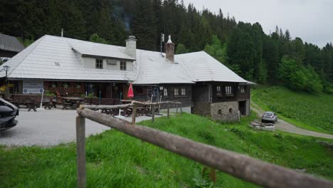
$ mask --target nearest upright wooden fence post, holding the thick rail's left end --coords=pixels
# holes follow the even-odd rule
[[[76,117],[76,157],[78,162],[78,187],[85,187],[85,117]]]

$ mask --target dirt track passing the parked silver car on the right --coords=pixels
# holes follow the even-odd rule
[[[261,118],[261,115],[264,113],[264,110],[261,109],[255,103],[251,103],[251,110],[255,111],[255,113],[258,113],[258,117],[260,117],[260,118]],[[295,133],[298,135],[307,135],[307,136],[312,136],[312,137],[324,137],[324,138],[333,139],[333,135],[324,134],[324,133],[320,133],[320,132],[314,132],[311,130],[305,130],[305,129],[296,127],[295,125],[292,125],[289,122],[285,122],[284,120],[280,120],[280,119],[277,120],[277,122],[275,122],[275,128],[277,130]]]

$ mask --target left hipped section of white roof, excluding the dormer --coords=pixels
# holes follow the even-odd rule
[[[79,40],[58,36],[39,38],[4,63],[10,66],[8,77],[44,80],[127,80],[125,74],[127,77],[134,77],[132,71],[83,68],[80,56],[70,46],[73,41]],[[0,71],[0,77],[5,74],[5,71]]]

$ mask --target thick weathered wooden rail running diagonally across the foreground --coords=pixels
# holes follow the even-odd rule
[[[127,135],[137,137],[140,140],[263,187],[333,187],[333,182],[325,179],[315,178],[302,172],[255,160],[211,145],[194,142],[150,127],[133,126],[125,120],[97,113],[93,110],[78,109],[78,114],[81,117],[115,128]]]

